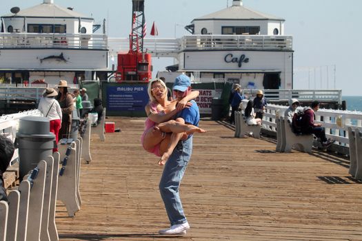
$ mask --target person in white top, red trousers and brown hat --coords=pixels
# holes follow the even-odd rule
[[[50,132],[55,135],[55,143],[58,145],[59,130],[61,129],[61,107],[54,98],[58,92],[53,88],[46,88],[43,92],[43,98],[40,99],[38,109],[44,117],[48,118],[50,123]],[[58,147],[53,148],[53,152],[58,151]]]

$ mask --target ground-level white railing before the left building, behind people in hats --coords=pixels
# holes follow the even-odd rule
[[[0,100],[7,102],[12,100],[39,102],[46,87],[56,88],[50,84],[0,84]],[[68,85],[69,91],[78,89],[79,85]]]

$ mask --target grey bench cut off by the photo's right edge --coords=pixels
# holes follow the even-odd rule
[[[348,127],[348,139],[350,143],[350,169],[351,176],[362,179],[362,133],[359,129]]]

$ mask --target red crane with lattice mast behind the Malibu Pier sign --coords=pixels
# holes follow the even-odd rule
[[[151,54],[143,52],[145,37],[144,0],[132,0],[130,50],[117,56],[116,81],[148,82],[152,78]]]

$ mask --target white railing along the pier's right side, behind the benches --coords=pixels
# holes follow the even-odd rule
[[[276,116],[284,116],[287,108],[287,106],[282,105],[268,105],[263,116],[263,128],[276,132]],[[298,109],[302,110],[303,107]],[[325,127],[327,137],[336,140],[337,144],[342,146],[349,146],[348,127],[362,127],[362,112],[319,109],[315,115],[316,123],[321,123],[322,127]]]

